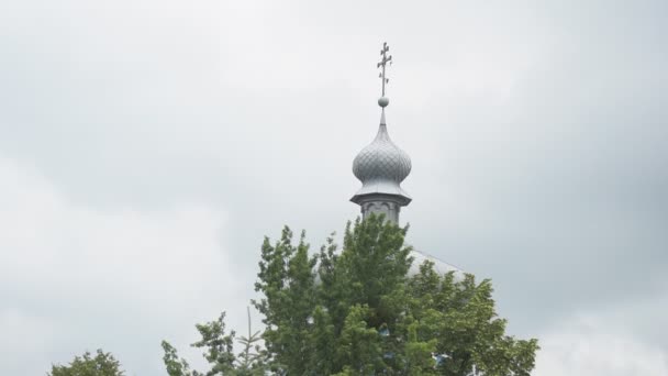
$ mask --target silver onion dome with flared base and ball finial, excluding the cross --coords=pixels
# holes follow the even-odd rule
[[[378,100],[378,104],[383,108],[378,134],[353,161],[353,174],[363,185],[353,197],[354,202],[357,202],[357,198],[371,193],[400,196],[398,199],[402,204],[411,201],[400,186],[411,173],[411,158],[390,140],[385,120],[385,107],[388,103],[386,97]]]

